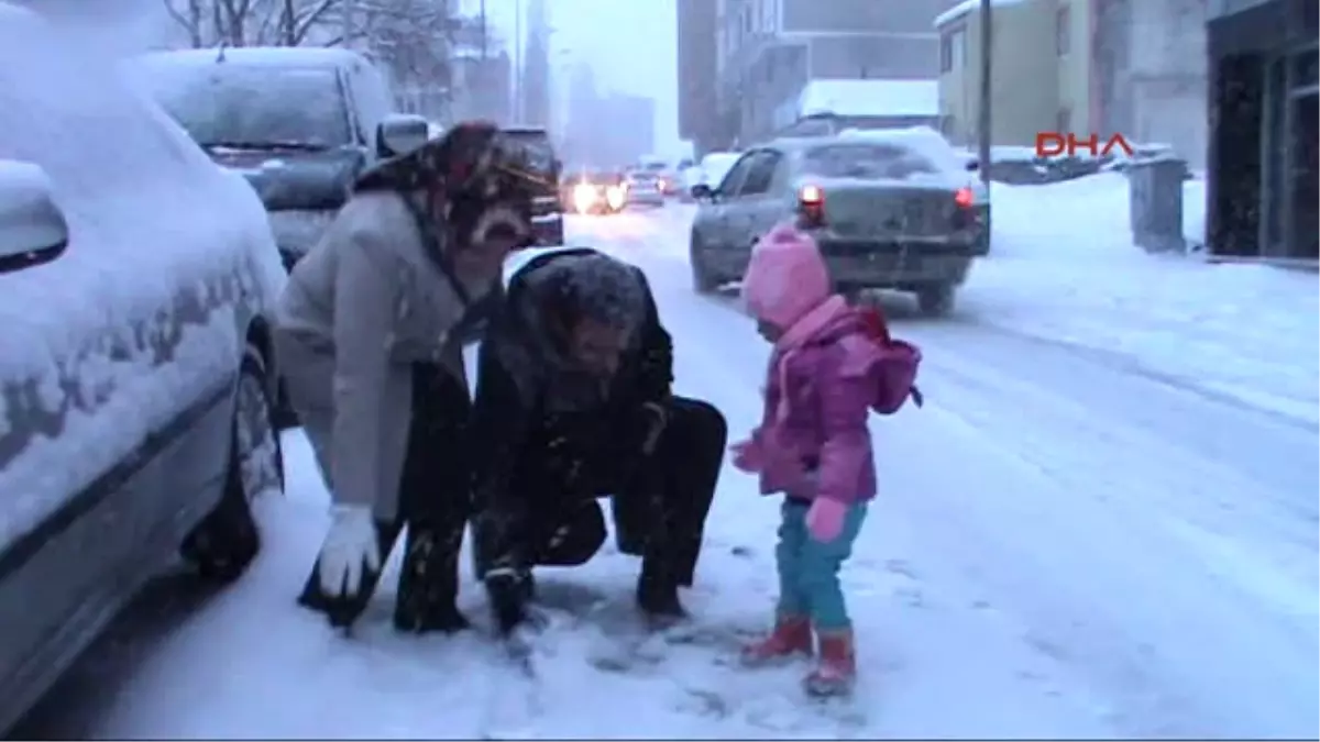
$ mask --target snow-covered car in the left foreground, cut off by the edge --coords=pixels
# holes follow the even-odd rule
[[[0,731],[282,481],[265,213],[107,62],[0,3]]]

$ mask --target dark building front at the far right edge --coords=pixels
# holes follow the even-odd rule
[[[1210,3],[1206,248],[1320,260],[1320,3]]]

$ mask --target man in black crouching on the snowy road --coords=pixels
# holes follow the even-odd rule
[[[539,255],[510,279],[477,362],[477,574],[503,635],[529,618],[532,569],[590,560],[611,496],[638,606],[684,614],[727,442],[723,415],[671,392],[673,345],[645,276],[594,250]]]

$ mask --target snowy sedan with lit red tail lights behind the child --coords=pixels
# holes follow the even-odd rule
[[[701,201],[690,236],[700,292],[741,280],[755,242],[793,220],[814,235],[843,293],[912,292],[924,313],[944,314],[985,250],[966,169],[927,153],[916,136],[771,141],[693,195]]]

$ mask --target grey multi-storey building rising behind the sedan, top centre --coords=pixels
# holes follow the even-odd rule
[[[719,99],[746,144],[813,79],[935,79],[950,0],[718,0]]]

